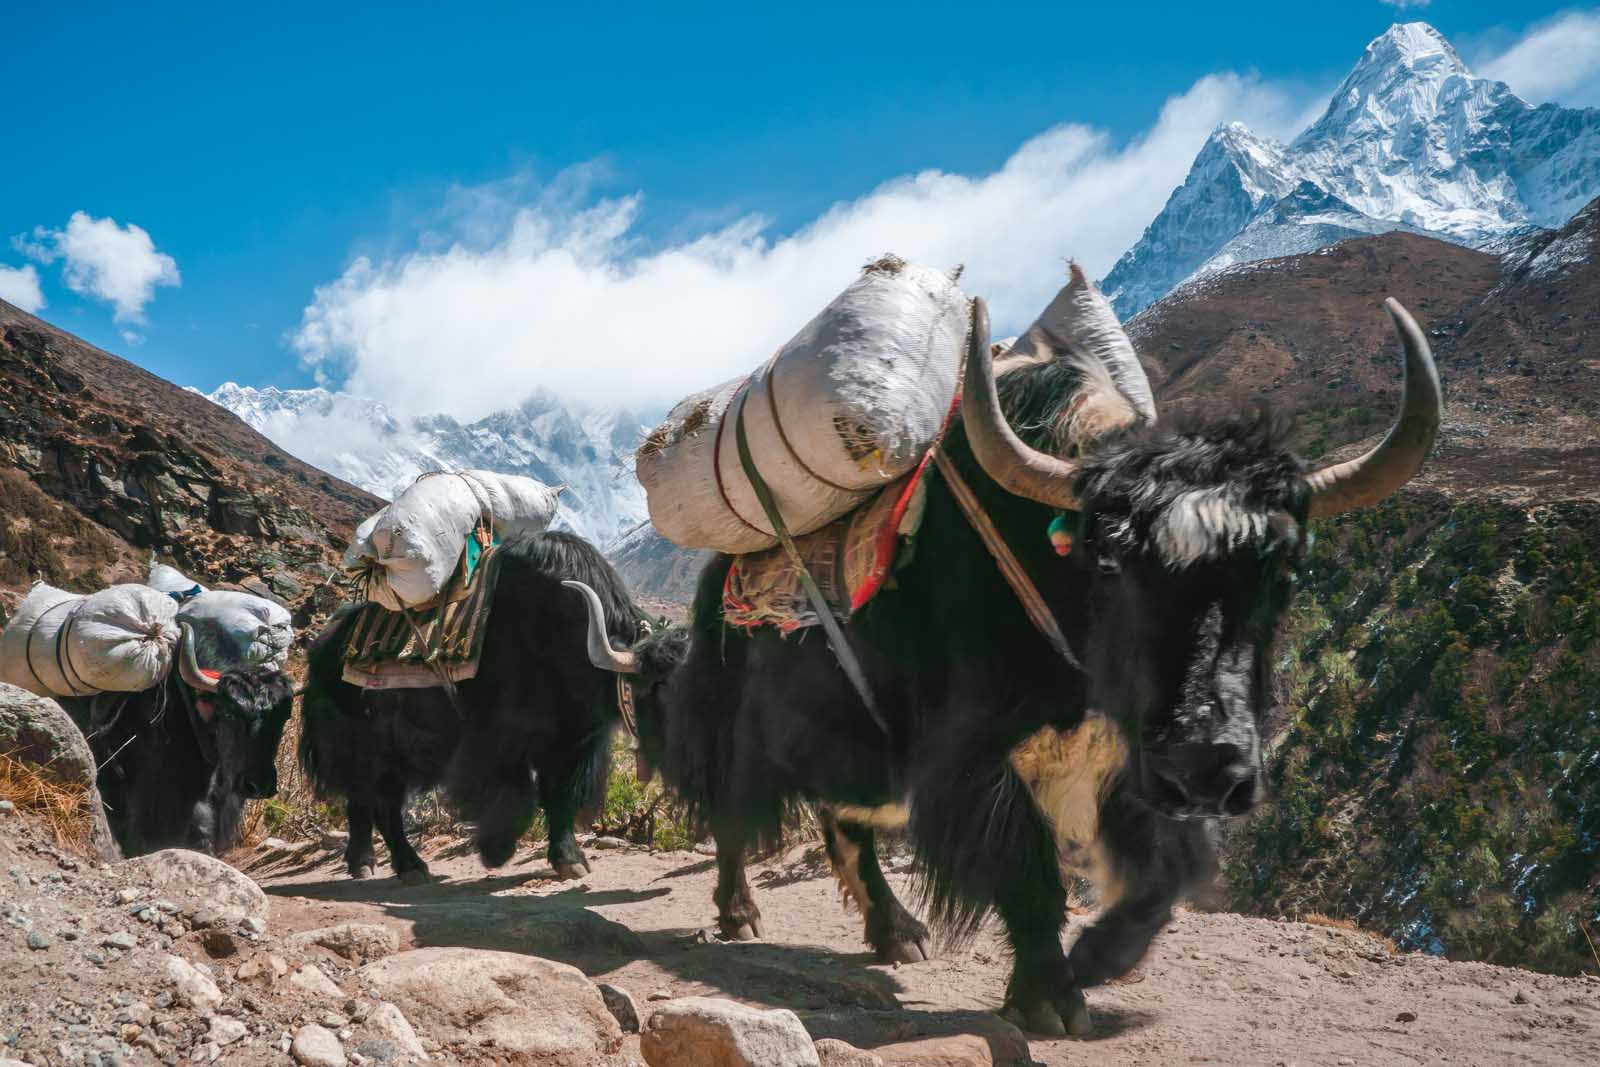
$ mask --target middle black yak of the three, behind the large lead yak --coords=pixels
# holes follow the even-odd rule
[[[614,637],[634,641],[645,617],[605,557],[570,533],[512,537],[496,549],[494,603],[477,677],[443,688],[363,689],[342,680],[355,608],[336,614],[312,645],[301,704],[301,766],[318,793],[346,801],[352,877],[373,873],[373,829],[403,881],[427,878],[406,841],[408,797],[443,785],[475,821],[488,867],[509,861],[542,806],[550,865],[589,873],[574,821],[605,798],[611,736],[622,721],[616,678],[586,654],[584,606],[562,590],[576,579],[600,590]]]

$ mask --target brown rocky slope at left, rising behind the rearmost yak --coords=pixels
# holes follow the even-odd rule
[[[149,557],[296,606],[378,501],[203,397],[0,302],[0,589],[142,581]]]

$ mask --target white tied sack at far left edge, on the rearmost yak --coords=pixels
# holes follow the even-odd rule
[[[34,585],[0,633],[0,678],[40,696],[141,693],[173,665],[178,605],[149,585]]]

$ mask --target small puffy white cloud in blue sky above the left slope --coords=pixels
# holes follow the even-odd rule
[[[117,322],[144,322],[144,306],[155,286],[179,285],[178,262],[157,251],[144,229],[117,219],[74,211],[64,230],[34,229],[30,242],[18,240],[40,262],[66,261],[62,278],[74,293],[109,302]]]

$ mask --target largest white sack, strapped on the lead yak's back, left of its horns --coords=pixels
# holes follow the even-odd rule
[[[794,534],[904,475],[939,435],[971,309],[955,275],[885,256],[749,379],[683,400],[638,450],[650,520],[685,549],[778,542],[739,462],[750,458]]]

